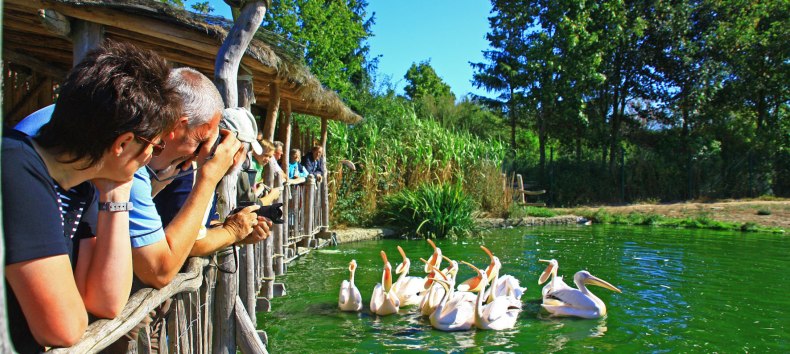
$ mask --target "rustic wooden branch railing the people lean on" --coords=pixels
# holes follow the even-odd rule
[[[285,273],[288,262],[322,246],[315,236],[328,225],[322,210],[325,181],[316,183],[311,176],[286,186],[290,193],[279,201],[285,222],[275,225],[265,241],[190,258],[170,284],[135,292],[117,318],[91,323],[76,345],[50,352],[95,353],[135,328],[141,329],[129,343],[130,352],[150,353],[157,343],[159,353],[235,353],[237,346],[244,353],[266,352],[266,335],[255,329],[256,310],[268,311],[269,299],[284,295],[275,277]],[[138,326],[168,299],[169,311],[156,326]]]

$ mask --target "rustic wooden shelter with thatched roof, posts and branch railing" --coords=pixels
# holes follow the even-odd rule
[[[6,126],[53,103],[68,70],[104,39],[153,50],[174,66],[189,66],[213,77],[217,53],[233,25],[153,0],[5,0],[2,13]],[[257,31],[239,66],[238,105],[262,117],[259,127],[265,139],[274,140],[279,126],[284,151],[291,145],[292,113],[319,117],[320,138],[314,140],[326,151],[328,120],[356,123],[361,117],[321,85],[303,64],[303,56],[298,45]],[[313,139],[310,144],[315,144]],[[287,171],[288,154],[283,157],[280,163]],[[270,186],[281,185],[273,175],[266,178]],[[118,318],[91,324],[80,343],[64,350],[97,352],[162,301],[174,298],[174,310],[159,336],[167,338],[169,350],[235,352],[238,344],[243,352],[258,352],[260,339],[250,336],[256,307],[266,310],[268,299],[285,293],[283,285],[274,282],[275,276],[284,274],[289,261],[311,247],[330,242],[327,180],[310,177],[302,185],[285,186],[291,193],[284,195],[292,196],[282,199],[284,218],[290,222],[275,227],[265,242],[227,250],[213,261],[214,266],[208,266],[212,263],[208,259],[190,259],[185,272],[170,285],[133,294]],[[236,257],[227,256],[233,252],[238,252],[238,264]],[[217,271],[234,267],[235,274]],[[228,277],[234,280],[228,283]],[[217,284],[232,284],[231,295],[223,298],[223,292],[215,290]],[[226,327],[228,321],[237,326]],[[138,351],[150,350],[146,338],[153,335],[141,333]],[[261,339],[265,342],[265,336]]]

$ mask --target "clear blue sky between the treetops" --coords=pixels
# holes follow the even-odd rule
[[[187,6],[194,2],[185,1]],[[214,14],[230,17],[222,0],[210,3]],[[469,62],[483,61],[490,11],[491,3],[483,0],[369,0],[368,14],[375,12],[376,22],[370,55],[379,56],[379,79],[388,78],[403,93],[409,66],[430,59],[456,97],[469,92],[486,95],[472,85]]]

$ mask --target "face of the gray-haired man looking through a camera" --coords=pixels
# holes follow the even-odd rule
[[[186,117],[179,120],[173,134],[165,138],[167,145],[159,156],[148,164],[154,170],[162,170],[171,165],[180,165],[196,157],[204,144],[214,144],[219,135],[219,121],[222,113],[217,112],[210,122],[189,129]],[[205,157],[203,157],[205,158]],[[202,161],[198,161],[200,163]]]

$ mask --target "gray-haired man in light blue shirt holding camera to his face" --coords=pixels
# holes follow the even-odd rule
[[[170,283],[190,254],[210,254],[269,234],[268,221],[255,213],[258,206],[228,216],[220,227],[205,228],[217,183],[244,158],[244,149],[230,131],[219,129],[224,104],[211,80],[190,68],[174,69],[169,80],[184,101],[181,118],[163,137],[162,151],[135,174],[135,209],[129,217],[134,273],[155,288]],[[222,142],[215,147],[218,137]],[[153,195],[185,173],[194,173],[192,190],[163,227]]]

